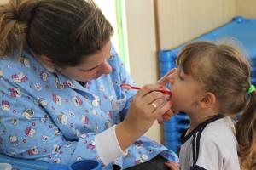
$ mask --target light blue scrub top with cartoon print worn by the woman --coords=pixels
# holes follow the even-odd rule
[[[0,153],[68,164],[82,159],[100,160],[96,133],[121,122],[136,93],[120,88],[134,84],[111,48],[113,71],[82,86],[51,72],[31,54],[0,60]],[[104,141],[102,141],[104,142]],[[126,168],[160,154],[178,161],[172,150],[147,137],[137,139],[128,154],[114,164]],[[111,169],[113,163],[103,165]]]

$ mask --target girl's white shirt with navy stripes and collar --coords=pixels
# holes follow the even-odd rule
[[[193,130],[182,138],[180,166],[182,170],[238,170],[237,141],[234,124],[229,117],[219,118],[210,122],[202,130]],[[194,135],[192,134],[194,133]],[[198,137],[200,140],[198,140]],[[195,151],[193,153],[193,141]],[[196,144],[196,141],[199,142]],[[197,145],[197,147],[196,147]],[[193,159],[197,155],[197,160]],[[196,160],[196,161],[194,161]]]

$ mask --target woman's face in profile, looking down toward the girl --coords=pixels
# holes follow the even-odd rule
[[[73,67],[58,68],[56,70],[69,78],[81,82],[96,79],[103,74],[109,74],[112,71],[112,67],[108,64],[110,47],[111,42],[108,41],[99,52],[84,57],[81,64]]]

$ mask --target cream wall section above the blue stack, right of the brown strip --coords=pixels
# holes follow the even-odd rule
[[[161,49],[175,48],[235,16],[235,0],[158,0],[157,5]]]

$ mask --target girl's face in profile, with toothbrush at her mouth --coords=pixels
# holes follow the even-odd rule
[[[197,111],[203,93],[201,84],[179,68],[168,76],[168,80],[171,82],[172,109],[186,113]]]

